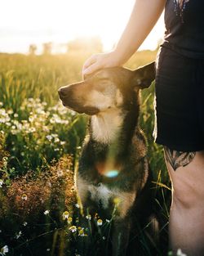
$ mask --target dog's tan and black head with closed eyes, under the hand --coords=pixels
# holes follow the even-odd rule
[[[78,113],[97,115],[128,106],[133,95],[148,88],[154,79],[154,62],[137,70],[106,68],[86,76],[80,83],[64,86],[58,92],[64,106]]]

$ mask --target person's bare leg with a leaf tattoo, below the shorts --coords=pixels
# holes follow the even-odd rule
[[[172,182],[170,246],[188,256],[204,255],[204,151],[179,152],[165,147]]]

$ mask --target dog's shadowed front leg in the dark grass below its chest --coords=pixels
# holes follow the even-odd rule
[[[113,256],[125,256],[131,230],[131,219],[122,218],[113,222]]]

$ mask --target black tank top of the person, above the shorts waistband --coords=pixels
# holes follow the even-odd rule
[[[204,59],[204,0],[166,0],[163,47]]]

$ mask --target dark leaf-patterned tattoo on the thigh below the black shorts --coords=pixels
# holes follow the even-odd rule
[[[171,164],[171,167],[176,170],[180,166],[188,165],[196,155],[196,152],[182,152],[171,150],[164,146],[166,161]]]

